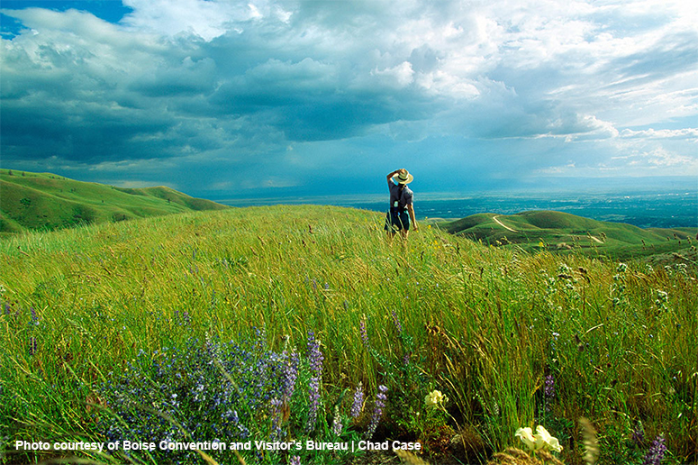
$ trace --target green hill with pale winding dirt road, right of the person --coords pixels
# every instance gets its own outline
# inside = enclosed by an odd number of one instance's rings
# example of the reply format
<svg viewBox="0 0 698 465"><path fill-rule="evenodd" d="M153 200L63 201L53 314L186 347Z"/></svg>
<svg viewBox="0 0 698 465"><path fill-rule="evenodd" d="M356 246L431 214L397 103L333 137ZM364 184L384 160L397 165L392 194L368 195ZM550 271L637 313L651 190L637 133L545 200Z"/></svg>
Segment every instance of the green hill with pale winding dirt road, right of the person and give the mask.
<svg viewBox="0 0 698 465"><path fill-rule="evenodd" d="M603 253L618 260L690 251L698 232L696 228L641 229L552 211L474 214L438 226L485 244L516 245L526 251Z"/></svg>

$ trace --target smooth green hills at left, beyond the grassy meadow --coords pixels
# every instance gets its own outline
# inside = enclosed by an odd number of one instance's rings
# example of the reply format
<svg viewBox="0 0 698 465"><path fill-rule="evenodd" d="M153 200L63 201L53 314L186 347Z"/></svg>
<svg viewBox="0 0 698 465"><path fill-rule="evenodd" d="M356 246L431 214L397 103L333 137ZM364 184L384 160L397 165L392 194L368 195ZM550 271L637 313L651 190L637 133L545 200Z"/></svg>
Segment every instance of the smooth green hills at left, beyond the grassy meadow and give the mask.
<svg viewBox="0 0 698 465"><path fill-rule="evenodd" d="M169 187L125 189L50 173L0 170L0 234L223 208Z"/></svg>

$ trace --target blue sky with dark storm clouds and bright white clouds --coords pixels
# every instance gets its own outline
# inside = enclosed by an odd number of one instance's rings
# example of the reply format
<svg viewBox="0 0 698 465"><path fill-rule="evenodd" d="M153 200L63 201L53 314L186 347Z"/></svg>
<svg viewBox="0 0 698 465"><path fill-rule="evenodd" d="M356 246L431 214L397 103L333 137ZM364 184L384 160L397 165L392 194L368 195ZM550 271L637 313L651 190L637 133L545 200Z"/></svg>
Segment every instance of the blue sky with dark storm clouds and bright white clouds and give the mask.
<svg viewBox="0 0 698 465"><path fill-rule="evenodd" d="M693 0L1 1L0 166L212 199L698 190ZM418 196L415 196L418 198Z"/></svg>

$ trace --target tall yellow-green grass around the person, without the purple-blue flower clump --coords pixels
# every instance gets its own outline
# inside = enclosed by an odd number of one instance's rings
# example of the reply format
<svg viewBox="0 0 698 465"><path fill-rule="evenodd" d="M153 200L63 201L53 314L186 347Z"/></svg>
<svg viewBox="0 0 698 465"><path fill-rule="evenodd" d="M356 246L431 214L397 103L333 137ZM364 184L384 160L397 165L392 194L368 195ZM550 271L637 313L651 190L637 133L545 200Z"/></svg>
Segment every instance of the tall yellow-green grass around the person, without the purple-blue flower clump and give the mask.
<svg viewBox="0 0 698 465"><path fill-rule="evenodd" d="M264 326L275 350L315 333L328 398L385 384L378 434L432 452L467 431L470 460L485 460L517 428L545 424L576 462L585 416L607 461L637 459L659 434L672 460L695 460L694 268L530 255L427 227L389 243L382 222L274 206L5 239L0 435L91 437L95 384L140 351L241 341ZM424 412L433 388L448 395L448 417ZM638 422L645 439L633 442Z"/></svg>

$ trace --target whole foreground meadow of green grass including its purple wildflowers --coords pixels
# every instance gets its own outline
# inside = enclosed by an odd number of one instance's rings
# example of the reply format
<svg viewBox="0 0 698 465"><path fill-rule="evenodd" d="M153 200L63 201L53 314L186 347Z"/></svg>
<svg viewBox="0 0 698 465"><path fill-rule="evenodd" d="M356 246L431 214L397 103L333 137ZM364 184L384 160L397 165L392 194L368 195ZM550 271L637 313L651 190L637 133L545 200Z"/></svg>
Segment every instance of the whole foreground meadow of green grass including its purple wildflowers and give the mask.
<svg viewBox="0 0 698 465"><path fill-rule="evenodd" d="M640 464L657 438L662 463L696 460L694 264L498 248L426 225L391 244L383 220L277 205L5 238L0 462L162 463L156 452L14 444L175 431L420 442L432 463L478 463L542 424L561 459L583 463L581 417L598 432L599 463ZM436 389L448 398L425 406ZM205 453L221 463L358 456Z"/></svg>

